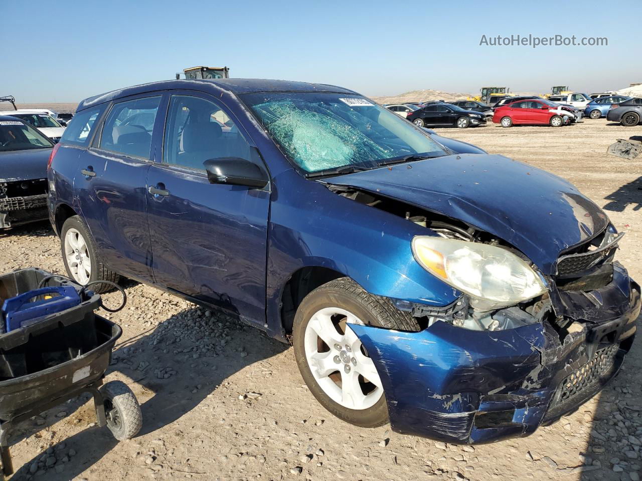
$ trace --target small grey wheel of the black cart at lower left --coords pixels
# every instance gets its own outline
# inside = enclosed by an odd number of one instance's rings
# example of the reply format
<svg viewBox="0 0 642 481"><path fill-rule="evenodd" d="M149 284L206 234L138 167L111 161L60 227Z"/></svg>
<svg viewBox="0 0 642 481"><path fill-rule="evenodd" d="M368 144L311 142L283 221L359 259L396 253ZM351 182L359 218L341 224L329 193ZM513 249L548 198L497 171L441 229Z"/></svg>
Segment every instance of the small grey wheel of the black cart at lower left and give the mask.
<svg viewBox="0 0 642 481"><path fill-rule="evenodd" d="M143 426L143 413L134 392L122 381L111 381L100 388L105 400L107 427L118 441L134 437Z"/></svg>

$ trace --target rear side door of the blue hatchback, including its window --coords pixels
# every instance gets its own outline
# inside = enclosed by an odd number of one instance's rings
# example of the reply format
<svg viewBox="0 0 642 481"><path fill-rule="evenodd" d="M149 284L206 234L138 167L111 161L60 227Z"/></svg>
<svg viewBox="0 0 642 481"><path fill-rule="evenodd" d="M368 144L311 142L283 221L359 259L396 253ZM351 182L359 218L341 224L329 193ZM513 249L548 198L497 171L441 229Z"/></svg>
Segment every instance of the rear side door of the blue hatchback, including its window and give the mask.
<svg viewBox="0 0 642 481"><path fill-rule="evenodd" d="M115 101L100 135L78 162L74 188L82 215L100 249L103 262L118 273L153 280L152 248L147 228L147 171L157 153L155 124L160 94Z"/></svg>

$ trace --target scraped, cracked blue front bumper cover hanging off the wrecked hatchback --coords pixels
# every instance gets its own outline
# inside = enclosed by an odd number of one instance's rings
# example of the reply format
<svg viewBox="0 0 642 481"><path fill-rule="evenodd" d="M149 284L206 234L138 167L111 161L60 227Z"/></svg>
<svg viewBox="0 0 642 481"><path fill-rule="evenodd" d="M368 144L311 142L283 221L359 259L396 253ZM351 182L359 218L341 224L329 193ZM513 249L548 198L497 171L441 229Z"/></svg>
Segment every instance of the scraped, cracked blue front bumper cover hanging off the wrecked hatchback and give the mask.
<svg viewBox="0 0 642 481"><path fill-rule="evenodd" d="M602 313L563 343L548 323L492 332L446 322L421 332L351 325L377 366L393 430L487 443L531 434L594 396L630 349L639 286L617 266L597 303L583 292L562 297Z"/></svg>

